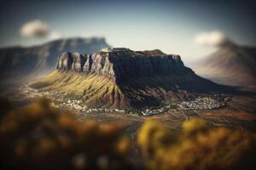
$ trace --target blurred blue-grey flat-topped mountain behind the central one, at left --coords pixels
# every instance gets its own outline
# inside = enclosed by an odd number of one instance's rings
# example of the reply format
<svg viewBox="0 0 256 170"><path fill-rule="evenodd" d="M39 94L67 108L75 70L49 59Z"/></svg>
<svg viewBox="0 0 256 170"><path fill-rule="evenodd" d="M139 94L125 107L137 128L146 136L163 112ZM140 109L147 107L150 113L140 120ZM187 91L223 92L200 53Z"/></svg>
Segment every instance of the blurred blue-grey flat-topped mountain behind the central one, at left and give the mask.
<svg viewBox="0 0 256 170"><path fill-rule="evenodd" d="M17 79L53 71L58 56L65 51L91 54L109 47L104 38L68 38L34 47L0 48L0 77Z"/></svg>

